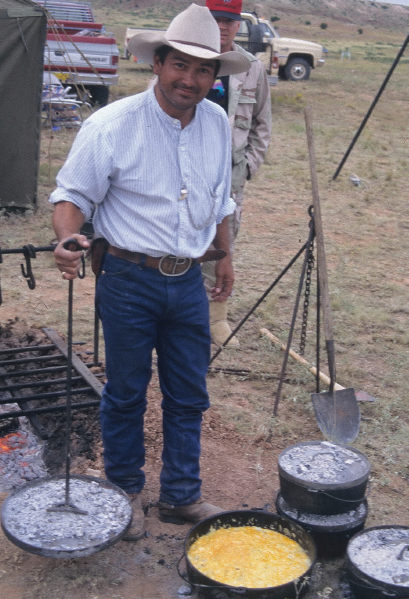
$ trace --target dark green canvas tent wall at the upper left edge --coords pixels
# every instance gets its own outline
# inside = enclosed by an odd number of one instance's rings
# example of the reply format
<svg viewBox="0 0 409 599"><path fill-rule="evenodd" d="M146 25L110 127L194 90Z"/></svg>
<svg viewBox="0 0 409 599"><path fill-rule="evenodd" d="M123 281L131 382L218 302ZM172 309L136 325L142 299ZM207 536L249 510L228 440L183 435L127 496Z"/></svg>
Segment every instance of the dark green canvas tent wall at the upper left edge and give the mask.
<svg viewBox="0 0 409 599"><path fill-rule="evenodd" d="M37 199L47 19L30 0L0 0L0 208Z"/></svg>

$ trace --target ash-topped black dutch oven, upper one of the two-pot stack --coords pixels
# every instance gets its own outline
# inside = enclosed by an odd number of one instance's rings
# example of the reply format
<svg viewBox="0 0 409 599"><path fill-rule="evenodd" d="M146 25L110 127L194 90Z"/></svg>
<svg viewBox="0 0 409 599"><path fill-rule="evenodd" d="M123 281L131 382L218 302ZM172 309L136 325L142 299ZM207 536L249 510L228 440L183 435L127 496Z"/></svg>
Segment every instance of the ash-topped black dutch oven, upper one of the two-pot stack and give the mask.
<svg viewBox="0 0 409 599"><path fill-rule="evenodd" d="M365 499L370 464L357 449L328 441L291 445L278 457L280 490L292 508L340 514Z"/></svg>

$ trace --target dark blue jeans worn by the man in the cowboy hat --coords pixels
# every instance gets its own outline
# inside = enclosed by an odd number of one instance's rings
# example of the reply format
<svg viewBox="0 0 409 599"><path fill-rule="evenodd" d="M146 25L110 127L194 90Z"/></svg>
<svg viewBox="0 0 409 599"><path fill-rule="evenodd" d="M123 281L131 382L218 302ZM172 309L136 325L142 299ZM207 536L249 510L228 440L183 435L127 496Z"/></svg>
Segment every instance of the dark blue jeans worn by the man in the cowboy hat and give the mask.
<svg viewBox="0 0 409 599"><path fill-rule="evenodd" d="M107 478L128 493L144 486L143 420L155 348L163 394L159 499L188 505L200 497L201 421L209 407L209 314L200 266L169 277L107 254L96 307L108 379L101 401Z"/></svg>

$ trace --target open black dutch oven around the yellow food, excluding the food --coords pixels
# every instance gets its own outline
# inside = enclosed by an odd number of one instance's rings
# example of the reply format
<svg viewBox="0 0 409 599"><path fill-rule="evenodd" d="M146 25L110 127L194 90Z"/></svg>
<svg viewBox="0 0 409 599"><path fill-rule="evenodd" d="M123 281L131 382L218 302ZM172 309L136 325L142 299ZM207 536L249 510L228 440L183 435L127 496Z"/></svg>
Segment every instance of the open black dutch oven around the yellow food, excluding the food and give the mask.
<svg viewBox="0 0 409 599"><path fill-rule="evenodd" d="M200 572L189 560L188 553L192 544L211 530L240 526L258 526L279 532L296 541L311 561L308 570L296 580L268 588L233 587L213 580ZM263 510L238 510L222 512L196 524L187 534L184 543L187 579L201 597L206 599L298 599L308 590L309 580L316 560L315 543L301 526L288 518ZM179 571L179 574L182 574ZM183 578L183 576L182 576Z"/></svg>

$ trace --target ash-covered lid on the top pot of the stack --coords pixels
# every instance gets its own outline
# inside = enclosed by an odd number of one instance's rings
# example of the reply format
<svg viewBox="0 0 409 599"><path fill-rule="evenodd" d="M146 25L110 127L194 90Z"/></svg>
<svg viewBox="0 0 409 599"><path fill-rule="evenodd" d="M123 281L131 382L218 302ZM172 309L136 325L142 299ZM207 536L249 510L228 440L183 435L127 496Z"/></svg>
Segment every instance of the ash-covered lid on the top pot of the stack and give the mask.
<svg viewBox="0 0 409 599"><path fill-rule="evenodd" d="M370 464L358 450L329 441L291 445L278 457L281 474L304 484L359 484L369 476Z"/></svg>

